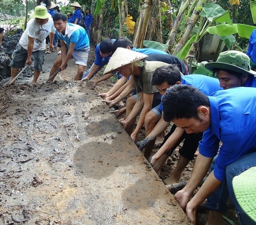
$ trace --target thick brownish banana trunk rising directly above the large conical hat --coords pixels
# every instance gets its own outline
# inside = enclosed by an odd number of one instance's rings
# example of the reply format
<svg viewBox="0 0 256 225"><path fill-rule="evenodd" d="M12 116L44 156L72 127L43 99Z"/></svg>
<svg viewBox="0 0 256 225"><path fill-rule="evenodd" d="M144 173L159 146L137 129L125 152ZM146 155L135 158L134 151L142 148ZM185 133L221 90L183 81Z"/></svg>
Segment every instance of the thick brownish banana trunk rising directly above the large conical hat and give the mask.
<svg viewBox="0 0 256 225"><path fill-rule="evenodd" d="M152 0L146 0L141 7L140 16L138 18L138 26L133 38L134 47L143 47L143 41L148 29L148 22L151 13Z"/></svg>

